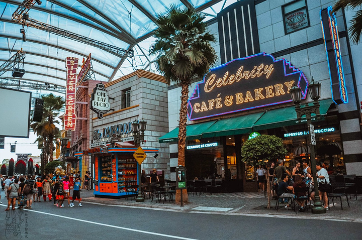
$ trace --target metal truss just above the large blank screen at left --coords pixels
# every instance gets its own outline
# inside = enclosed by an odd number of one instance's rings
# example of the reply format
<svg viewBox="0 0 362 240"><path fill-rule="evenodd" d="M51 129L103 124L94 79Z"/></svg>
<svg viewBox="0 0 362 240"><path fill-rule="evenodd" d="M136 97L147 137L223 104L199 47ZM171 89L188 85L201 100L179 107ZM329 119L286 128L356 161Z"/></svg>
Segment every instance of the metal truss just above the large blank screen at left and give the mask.
<svg viewBox="0 0 362 240"><path fill-rule="evenodd" d="M53 92L59 92L62 94L65 94L65 87L59 87L59 86L50 86L50 84L39 84L39 83L32 83L27 81L21 81L21 80L15 80L15 79L9 79L0 77L0 86L7 87L7 88L13 88L13 89L30 89L30 90L47 90L47 91L53 91Z"/></svg>

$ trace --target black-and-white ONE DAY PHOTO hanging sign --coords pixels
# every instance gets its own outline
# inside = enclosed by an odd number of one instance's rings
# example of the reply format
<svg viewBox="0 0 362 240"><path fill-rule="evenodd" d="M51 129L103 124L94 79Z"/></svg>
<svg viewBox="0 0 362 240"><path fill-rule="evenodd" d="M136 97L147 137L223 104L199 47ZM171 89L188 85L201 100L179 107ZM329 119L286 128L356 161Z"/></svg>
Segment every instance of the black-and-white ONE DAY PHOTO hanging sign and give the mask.
<svg viewBox="0 0 362 240"><path fill-rule="evenodd" d="M98 118L102 118L103 114L111 110L107 90L102 83L98 83L93 89L91 109L98 114Z"/></svg>

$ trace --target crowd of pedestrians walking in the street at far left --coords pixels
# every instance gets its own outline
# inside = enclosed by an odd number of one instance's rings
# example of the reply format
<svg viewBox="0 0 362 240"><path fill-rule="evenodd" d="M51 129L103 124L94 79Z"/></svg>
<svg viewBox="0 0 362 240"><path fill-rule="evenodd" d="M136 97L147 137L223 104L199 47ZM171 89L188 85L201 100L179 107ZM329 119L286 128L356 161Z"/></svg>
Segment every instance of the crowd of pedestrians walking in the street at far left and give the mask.
<svg viewBox="0 0 362 240"><path fill-rule="evenodd" d="M8 199L8 207L6 211L10 210L10 207L14 210L18 203L18 209L31 209L33 202L52 201L54 206L64 207L63 201L66 199L68 207L73 207L74 200L78 200L78 206L81 207L80 189L81 189L81 177L80 171L78 174L70 175L73 182L69 181L69 175L61 177L60 175L35 176L35 175L16 175L16 176L3 176L0 175L0 194L2 188L5 190L5 197ZM90 172L86 172L83 182L85 183L84 189L89 190ZM70 198L70 190L73 186L72 197ZM0 195L0 204L1 204Z"/></svg>

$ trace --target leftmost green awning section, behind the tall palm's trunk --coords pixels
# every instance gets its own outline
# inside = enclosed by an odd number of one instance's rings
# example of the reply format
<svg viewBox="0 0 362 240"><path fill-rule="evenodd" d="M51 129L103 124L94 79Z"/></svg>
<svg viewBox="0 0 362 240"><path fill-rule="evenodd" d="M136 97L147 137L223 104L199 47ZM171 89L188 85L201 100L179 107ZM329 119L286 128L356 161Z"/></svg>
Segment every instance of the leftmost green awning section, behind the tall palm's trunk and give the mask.
<svg viewBox="0 0 362 240"><path fill-rule="evenodd" d="M210 121L199 124L192 124L186 126L186 140L201 139L202 133L213 125L216 121ZM159 143L177 143L178 141L178 128L175 128L171 132L163 135L158 139Z"/></svg>

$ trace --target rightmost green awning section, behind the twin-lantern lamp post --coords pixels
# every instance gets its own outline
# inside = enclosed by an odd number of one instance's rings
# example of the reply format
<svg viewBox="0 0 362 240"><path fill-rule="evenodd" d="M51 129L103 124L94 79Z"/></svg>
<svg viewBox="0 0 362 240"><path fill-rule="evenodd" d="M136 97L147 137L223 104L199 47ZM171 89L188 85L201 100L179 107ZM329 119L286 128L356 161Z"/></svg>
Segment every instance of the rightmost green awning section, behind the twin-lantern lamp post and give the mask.
<svg viewBox="0 0 362 240"><path fill-rule="evenodd" d="M328 108L333 103L332 99L320 100L319 112L321 115L325 115ZM303 105L302 105L303 106ZM312 114L312 118L313 118ZM302 117L301 121L306 121L305 117ZM313 121L313 119L312 119ZM256 121L253 126L254 131L264 129L274 129L279 127L291 126L300 124L297 122L297 112L294 106L288 106L284 108L277 108L265 111L265 113Z"/></svg>

